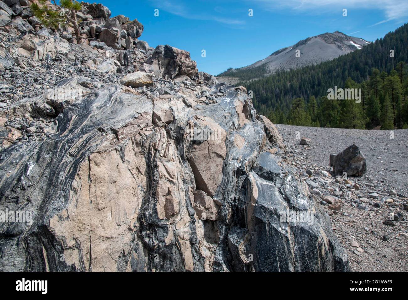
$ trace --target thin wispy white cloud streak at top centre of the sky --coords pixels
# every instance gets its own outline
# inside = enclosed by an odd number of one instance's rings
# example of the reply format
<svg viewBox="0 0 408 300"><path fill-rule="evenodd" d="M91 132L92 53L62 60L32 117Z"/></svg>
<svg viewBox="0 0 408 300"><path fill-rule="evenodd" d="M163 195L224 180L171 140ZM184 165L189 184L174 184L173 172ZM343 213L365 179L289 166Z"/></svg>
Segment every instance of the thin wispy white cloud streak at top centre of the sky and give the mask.
<svg viewBox="0 0 408 300"><path fill-rule="evenodd" d="M228 24L228 25L244 25L245 24L244 20L225 18L224 16L222 16L223 14L220 11L220 7L215 7L214 11L216 13L219 13L219 15L214 15L214 13L208 14L205 12L197 13L195 11L191 11L191 9L188 9L188 6L182 4L181 1L173 2L171 0L164 0L164 1L153 0L152 2L157 8L163 9L164 11L167 11L176 16L180 16L186 19L208 20L208 21L215 21L215 22L220 22L220 23Z"/></svg>

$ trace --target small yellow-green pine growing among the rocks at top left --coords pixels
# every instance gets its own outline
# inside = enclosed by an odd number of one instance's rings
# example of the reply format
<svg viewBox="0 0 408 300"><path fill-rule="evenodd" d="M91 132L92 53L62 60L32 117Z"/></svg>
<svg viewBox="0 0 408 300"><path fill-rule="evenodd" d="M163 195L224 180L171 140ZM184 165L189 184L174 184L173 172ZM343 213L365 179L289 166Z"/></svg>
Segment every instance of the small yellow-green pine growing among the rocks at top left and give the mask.
<svg viewBox="0 0 408 300"><path fill-rule="evenodd" d="M76 13L82 9L82 4L77 1L60 0L60 5L55 0L47 4L47 0L38 0L31 4L34 16L45 26L58 29L60 26L72 26L77 44L80 44L80 32Z"/></svg>

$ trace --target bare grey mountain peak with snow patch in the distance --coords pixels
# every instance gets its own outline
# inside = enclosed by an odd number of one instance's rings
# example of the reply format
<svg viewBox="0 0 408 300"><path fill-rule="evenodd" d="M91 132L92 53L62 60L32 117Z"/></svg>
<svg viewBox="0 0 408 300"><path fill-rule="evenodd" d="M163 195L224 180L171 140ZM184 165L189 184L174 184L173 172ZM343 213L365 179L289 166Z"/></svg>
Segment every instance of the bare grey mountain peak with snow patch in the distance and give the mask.
<svg viewBox="0 0 408 300"><path fill-rule="evenodd" d="M272 74L278 70L299 69L326 60L333 60L341 55L361 49L367 44L370 44L370 42L361 38L347 36L339 31L327 32L275 51L267 58L258 60L249 66L226 71L217 76L217 79L220 82L236 83L239 81L236 78L237 73L256 67L264 67L262 75ZM296 51L299 51L298 56L296 56Z"/></svg>

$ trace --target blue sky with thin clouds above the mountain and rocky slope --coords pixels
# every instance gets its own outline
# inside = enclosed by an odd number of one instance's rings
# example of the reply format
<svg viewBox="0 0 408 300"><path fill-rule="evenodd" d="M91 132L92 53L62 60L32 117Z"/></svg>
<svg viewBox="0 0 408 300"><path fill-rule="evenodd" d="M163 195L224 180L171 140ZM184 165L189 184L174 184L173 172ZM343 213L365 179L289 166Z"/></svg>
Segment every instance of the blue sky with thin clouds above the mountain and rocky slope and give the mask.
<svg viewBox="0 0 408 300"><path fill-rule="evenodd" d="M200 71L244 67L325 32L374 41L408 21L408 0L98 0L137 18L151 47L187 50ZM159 16L155 17L155 9ZM248 9L253 16L248 16ZM347 9L347 16L343 16ZM202 50L206 57L202 57Z"/></svg>

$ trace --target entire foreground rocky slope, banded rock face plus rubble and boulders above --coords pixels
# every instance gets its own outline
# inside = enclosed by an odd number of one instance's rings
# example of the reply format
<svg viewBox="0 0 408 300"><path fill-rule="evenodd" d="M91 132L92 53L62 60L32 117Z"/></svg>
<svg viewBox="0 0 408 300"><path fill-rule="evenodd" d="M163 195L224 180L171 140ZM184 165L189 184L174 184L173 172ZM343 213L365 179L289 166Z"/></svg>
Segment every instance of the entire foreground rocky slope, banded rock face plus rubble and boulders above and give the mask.
<svg viewBox="0 0 408 300"><path fill-rule="evenodd" d="M243 87L101 4L77 45L0 3L0 271L349 270Z"/></svg>

